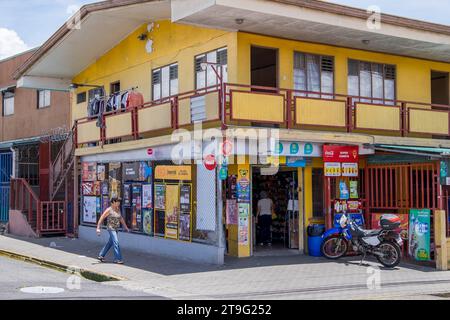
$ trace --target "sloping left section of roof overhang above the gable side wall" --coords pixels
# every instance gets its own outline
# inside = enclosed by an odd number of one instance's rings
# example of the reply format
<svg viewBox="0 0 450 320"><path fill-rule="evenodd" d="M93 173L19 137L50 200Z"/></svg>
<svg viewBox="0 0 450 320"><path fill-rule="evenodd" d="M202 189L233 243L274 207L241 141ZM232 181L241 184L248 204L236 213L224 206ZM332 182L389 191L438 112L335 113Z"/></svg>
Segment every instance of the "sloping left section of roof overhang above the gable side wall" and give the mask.
<svg viewBox="0 0 450 320"><path fill-rule="evenodd" d="M52 37L60 39L50 38L30 58L32 63L17 71L18 87L66 91L75 75L139 26L170 19L169 0L105 1L85 7Z"/></svg>

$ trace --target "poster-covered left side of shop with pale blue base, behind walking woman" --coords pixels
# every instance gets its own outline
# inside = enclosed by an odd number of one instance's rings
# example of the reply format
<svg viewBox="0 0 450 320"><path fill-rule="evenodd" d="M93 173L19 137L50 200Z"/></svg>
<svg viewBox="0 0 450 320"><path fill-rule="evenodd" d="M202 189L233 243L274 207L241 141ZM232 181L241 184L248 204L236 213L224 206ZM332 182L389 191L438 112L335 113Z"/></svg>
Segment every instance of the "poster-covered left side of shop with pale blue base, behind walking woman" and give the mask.
<svg viewBox="0 0 450 320"><path fill-rule="evenodd" d="M174 164L173 147L82 157L80 237L105 241L94 227L110 199L119 197L131 230L120 233L123 248L223 263L216 171L201 163Z"/></svg>

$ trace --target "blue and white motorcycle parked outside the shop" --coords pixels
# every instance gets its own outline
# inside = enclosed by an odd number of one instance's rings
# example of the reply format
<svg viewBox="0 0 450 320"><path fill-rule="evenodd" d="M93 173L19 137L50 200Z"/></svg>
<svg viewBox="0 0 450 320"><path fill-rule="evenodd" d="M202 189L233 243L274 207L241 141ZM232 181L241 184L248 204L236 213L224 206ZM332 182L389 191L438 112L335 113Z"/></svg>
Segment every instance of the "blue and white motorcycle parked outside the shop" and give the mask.
<svg viewBox="0 0 450 320"><path fill-rule="evenodd" d="M365 230L344 213L339 220L339 228L327 230L322 236L321 251L328 259L343 257L351 245L353 251L362 254L360 265L367 255L373 255L387 268L396 267L401 260L403 240L398 228L400 218L386 214L380 218L379 230Z"/></svg>

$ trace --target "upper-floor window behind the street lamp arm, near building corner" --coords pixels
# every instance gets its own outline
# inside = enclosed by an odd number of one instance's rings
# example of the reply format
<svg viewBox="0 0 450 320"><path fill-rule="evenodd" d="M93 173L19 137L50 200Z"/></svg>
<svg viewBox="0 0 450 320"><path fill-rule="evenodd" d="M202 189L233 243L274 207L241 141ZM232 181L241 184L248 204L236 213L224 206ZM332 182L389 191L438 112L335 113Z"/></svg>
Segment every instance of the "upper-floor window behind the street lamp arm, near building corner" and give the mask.
<svg viewBox="0 0 450 320"><path fill-rule="evenodd" d="M206 70L202 69L202 63L209 62L217 64L217 66L208 65ZM219 67L221 66L221 67ZM195 57L195 88L203 89L219 84L219 79L214 72L223 70L223 82L228 81L228 51L227 48L217 49Z"/></svg>

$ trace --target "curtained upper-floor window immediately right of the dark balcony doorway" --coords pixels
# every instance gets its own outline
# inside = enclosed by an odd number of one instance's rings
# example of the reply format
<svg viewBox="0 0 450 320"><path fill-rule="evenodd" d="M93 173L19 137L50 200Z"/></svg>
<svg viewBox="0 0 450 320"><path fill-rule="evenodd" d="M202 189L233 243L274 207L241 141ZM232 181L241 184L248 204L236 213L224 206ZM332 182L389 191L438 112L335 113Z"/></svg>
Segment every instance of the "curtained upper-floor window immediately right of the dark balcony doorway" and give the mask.
<svg viewBox="0 0 450 320"><path fill-rule="evenodd" d="M333 98L334 58L295 52L294 89L314 92L298 92L298 96Z"/></svg>

